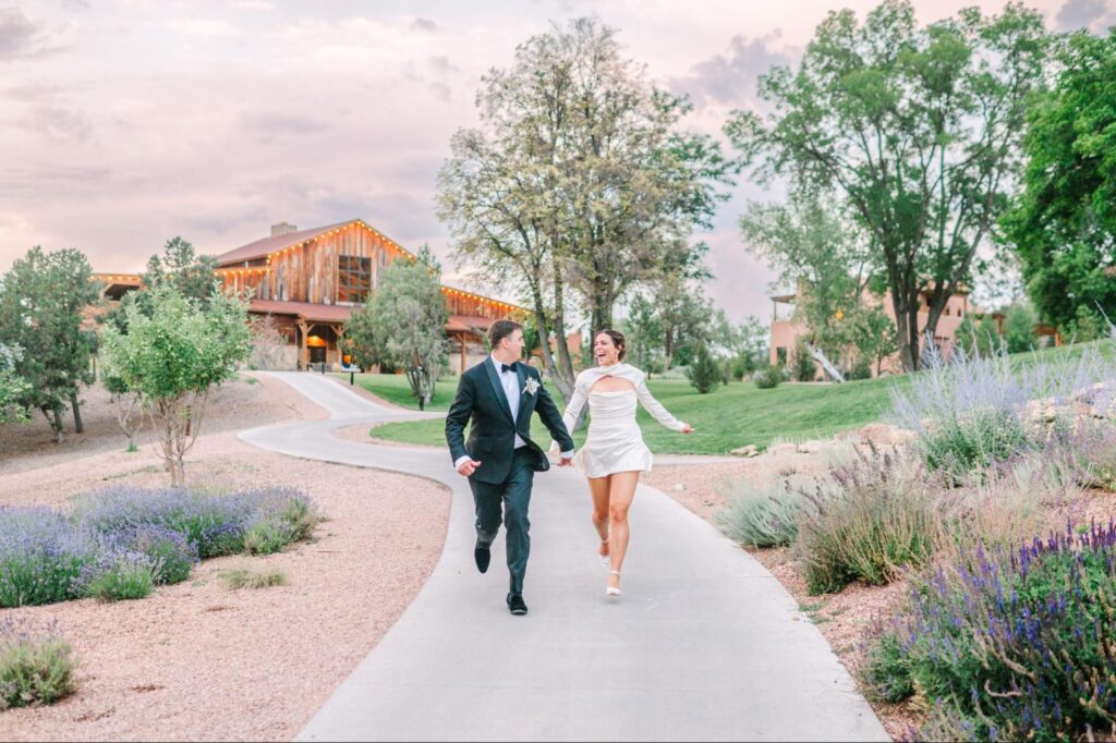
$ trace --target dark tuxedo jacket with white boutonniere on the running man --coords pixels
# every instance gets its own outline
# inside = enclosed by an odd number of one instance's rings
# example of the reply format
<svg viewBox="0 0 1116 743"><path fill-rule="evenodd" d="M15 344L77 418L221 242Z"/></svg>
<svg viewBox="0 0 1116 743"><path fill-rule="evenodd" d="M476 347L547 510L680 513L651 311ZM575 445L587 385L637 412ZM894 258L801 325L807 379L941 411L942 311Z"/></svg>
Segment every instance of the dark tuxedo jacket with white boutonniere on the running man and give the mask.
<svg viewBox="0 0 1116 743"><path fill-rule="evenodd" d="M517 433L535 456L535 471L550 469L542 448L531 441L531 415L535 412L538 412L561 451L574 448L574 440L566 431L558 406L542 386L538 370L522 363L517 364L516 369L520 393L519 414L514 419L491 356L461 375L458 395L445 416L445 441L454 462L468 455L481 463L470 480L490 484L507 480L516 452ZM538 383L538 389L532 395L525 389L528 379ZM464 441L466 423L470 424L469 441Z"/></svg>

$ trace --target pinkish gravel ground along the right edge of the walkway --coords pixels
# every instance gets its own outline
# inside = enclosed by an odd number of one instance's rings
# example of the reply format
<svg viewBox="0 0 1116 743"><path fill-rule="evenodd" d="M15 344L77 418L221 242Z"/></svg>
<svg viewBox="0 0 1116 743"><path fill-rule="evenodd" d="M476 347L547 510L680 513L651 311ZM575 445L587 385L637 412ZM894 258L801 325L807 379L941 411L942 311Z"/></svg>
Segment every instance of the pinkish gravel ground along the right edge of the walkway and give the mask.
<svg viewBox="0 0 1116 743"><path fill-rule="evenodd" d="M712 522L712 514L727 504L732 483L741 479L760 485L779 476L820 474L825 470L826 465L814 454L788 452L740 462L658 466L642 481ZM877 617L887 616L906 592L905 582L885 587L856 583L840 594L810 596L790 549L748 551L795 597L853 674L864 659L863 643L872 624ZM873 708L894 740L910 739L912 728L917 726L916 712L907 704L874 703Z"/></svg>

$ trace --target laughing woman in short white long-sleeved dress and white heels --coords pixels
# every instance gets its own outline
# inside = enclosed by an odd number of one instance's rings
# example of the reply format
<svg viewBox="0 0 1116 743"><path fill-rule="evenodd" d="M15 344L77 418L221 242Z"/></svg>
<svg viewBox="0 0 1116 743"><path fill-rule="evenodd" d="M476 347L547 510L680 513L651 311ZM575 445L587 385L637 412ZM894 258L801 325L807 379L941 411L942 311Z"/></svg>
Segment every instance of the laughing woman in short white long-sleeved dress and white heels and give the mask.
<svg viewBox="0 0 1116 743"><path fill-rule="evenodd" d="M574 395L562 422L574 430L586 401L589 403L589 432L585 446L574 456L574 464L585 473L593 495L593 525L600 537L600 560L608 565L605 594L620 595L620 568L628 544L627 512L635 498L641 472L651 472L651 450L635 422L636 403L672 431L693 433L693 428L666 412L652 397L646 375L624 364L626 342L616 330L602 330L593 341L597 366L578 375Z"/></svg>

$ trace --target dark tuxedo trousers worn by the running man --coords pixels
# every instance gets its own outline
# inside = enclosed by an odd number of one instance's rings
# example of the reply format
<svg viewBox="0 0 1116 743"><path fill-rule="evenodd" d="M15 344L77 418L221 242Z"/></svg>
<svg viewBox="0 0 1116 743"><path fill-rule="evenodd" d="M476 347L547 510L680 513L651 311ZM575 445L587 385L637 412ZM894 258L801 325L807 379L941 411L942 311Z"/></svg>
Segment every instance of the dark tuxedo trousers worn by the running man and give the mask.
<svg viewBox="0 0 1116 743"><path fill-rule="evenodd" d="M508 479L492 484L470 479L473 504L477 506L477 543L487 547L500 531L500 521L507 529L508 572L511 573L510 591L523 592L527 558L531 553L531 522L527 510L531 504L531 484L535 481L533 454L526 446L516 450ZM483 466L483 465L482 465ZM502 508L501 508L502 506ZM502 511L502 513L501 513Z"/></svg>

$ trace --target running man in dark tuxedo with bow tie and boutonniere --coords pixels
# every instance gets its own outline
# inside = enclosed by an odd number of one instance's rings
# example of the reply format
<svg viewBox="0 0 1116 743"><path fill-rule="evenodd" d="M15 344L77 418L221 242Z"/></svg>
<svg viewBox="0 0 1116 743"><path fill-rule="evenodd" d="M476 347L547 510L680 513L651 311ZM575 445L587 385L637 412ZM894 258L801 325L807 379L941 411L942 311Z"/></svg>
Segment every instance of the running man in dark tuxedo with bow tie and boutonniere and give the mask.
<svg viewBox="0 0 1116 743"><path fill-rule="evenodd" d="M559 466L574 456L561 413L542 387L539 373L519 359L523 353L523 328L511 320L497 320L489 328L492 355L461 375L458 395L445 416L445 441L450 444L453 466L469 477L477 506L477 569L488 570L492 540L500 529L501 505L508 529L508 571L511 589L508 610L527 614L523 602L523 575L531 551L531 527L527 509L531 503L531 483L536 472L546 472L550 463L531 441L531 413L538 411L550 435L561 446ZM470 423L469 441L463 440Z"/></svg>

